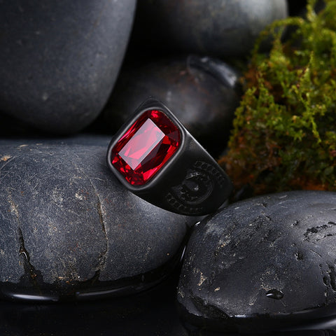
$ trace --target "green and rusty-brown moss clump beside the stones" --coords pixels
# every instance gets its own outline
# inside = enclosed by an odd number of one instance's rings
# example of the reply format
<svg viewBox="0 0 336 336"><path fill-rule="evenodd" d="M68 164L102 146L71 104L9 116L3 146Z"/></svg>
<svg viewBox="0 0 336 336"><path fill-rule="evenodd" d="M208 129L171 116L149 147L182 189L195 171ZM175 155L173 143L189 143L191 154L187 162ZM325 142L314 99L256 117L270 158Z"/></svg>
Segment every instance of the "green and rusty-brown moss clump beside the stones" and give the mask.
<svg viewBox="0 0 336 336"><path fill-rule="evenodd" d="M263 33L271 51L255 46L236 111L225 167L236 190L336 190L336 1L307 18L287 18ZM286 27L295 27L286 42Z"/></svg>

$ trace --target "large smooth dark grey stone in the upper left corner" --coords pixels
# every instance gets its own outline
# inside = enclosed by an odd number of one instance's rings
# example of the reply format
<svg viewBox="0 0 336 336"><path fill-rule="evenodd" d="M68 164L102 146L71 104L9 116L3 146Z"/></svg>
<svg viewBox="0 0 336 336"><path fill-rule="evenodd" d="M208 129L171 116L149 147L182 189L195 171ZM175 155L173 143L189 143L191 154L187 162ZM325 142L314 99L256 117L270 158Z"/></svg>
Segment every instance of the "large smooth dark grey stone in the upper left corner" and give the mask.
<svg viewBox="0 0 336 336"><path fill-rule="evenodd" d="M135 3L1 1L0 111L48 132L90 124L116 80Z"/></svg>

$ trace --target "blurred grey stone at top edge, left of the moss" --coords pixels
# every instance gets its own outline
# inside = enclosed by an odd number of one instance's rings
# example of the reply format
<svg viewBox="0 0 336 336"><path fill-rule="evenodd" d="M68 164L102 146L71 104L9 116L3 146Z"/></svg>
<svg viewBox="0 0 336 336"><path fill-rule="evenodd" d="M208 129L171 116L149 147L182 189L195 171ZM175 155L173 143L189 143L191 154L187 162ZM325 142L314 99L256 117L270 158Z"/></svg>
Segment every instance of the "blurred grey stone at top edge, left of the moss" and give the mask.
<svg viewBox="0 0 336 336"><path fill-rule="evenodd" d="M134 32L144 45L246 55L260 31L286 18L286 0L142 0Z"/></svg>

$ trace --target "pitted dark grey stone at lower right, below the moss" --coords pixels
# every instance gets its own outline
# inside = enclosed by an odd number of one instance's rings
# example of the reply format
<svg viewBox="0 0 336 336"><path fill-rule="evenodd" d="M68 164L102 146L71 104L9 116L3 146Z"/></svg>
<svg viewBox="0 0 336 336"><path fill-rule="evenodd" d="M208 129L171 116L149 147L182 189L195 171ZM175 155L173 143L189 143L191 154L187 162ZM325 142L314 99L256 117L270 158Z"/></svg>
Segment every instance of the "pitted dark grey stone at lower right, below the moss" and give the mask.
<svg viewBox="0 0 336 336"><path fill-rule="evenodd" d="M335 316L335 262L336 193L255 197L195 228L178 299L187 321L214 330L310 323Z"/></svg>

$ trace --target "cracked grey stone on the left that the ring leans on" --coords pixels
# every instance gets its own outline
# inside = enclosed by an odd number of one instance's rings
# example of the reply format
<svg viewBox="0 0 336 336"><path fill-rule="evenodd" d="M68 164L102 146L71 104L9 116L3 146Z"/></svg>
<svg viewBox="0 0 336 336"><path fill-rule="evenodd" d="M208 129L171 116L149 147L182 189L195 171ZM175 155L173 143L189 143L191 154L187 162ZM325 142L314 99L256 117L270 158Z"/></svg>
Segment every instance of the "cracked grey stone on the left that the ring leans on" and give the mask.
<svg viewBox="0 0 336 336"><path fill-rule="evenodd" d="M0 146L0 296L99 297L153 286L187 219L129 193L105 146Z"/></svg>

